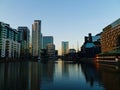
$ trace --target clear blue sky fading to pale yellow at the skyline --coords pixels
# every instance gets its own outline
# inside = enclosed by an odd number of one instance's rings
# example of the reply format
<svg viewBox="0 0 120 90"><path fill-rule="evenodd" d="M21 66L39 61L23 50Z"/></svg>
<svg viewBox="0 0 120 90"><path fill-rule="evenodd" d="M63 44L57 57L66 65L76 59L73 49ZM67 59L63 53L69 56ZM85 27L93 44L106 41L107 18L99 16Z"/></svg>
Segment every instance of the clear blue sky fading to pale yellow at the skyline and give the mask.
<svg viewBox="0 0 120 90"><path fill-rule="evenodd" d="M44 36L53 36L56 49L61 41L77 48L88 33L96 35L120 18L120 0L0 0L0 21L12 28L42 21Z"/></svg>

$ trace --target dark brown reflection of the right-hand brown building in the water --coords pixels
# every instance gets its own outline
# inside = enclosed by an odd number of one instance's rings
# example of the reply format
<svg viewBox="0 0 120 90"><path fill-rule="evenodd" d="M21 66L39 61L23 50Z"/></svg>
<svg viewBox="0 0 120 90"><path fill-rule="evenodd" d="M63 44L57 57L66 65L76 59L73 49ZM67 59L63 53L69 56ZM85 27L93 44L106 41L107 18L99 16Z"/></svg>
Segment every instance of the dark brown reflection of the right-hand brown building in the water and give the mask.
<svg viewBox="0 0 120 90"><path fill-rule="evenodd" d="M116 68L117 67L117 68ZM119 66L100 65L102 82L105 90L120 90L120 68Z"/></svg>

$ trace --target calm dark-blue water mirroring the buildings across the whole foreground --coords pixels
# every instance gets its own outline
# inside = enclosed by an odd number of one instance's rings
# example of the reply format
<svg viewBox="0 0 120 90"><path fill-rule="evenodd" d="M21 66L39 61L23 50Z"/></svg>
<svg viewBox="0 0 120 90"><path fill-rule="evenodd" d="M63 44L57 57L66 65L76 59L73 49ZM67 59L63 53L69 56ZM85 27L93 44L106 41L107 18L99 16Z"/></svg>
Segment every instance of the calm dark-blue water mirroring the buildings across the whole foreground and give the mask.
<svg viewBox="0 0 120 90"><path fill-rule="evenodd" d="M120 71L61 60L0 63L0 90L120 90Z"/></svg>

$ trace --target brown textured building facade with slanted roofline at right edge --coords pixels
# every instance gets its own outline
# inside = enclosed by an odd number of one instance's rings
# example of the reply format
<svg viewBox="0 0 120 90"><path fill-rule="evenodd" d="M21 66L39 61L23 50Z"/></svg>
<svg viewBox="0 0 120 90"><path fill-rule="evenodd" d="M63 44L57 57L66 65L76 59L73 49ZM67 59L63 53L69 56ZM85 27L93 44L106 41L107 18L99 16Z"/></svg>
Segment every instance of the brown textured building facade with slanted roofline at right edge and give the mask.
<svg viewBox="0 0 120 90"><path fill-rule="evenodd" d="M103 53L120 50L120 19L103 29L101 46Z"/></svg>

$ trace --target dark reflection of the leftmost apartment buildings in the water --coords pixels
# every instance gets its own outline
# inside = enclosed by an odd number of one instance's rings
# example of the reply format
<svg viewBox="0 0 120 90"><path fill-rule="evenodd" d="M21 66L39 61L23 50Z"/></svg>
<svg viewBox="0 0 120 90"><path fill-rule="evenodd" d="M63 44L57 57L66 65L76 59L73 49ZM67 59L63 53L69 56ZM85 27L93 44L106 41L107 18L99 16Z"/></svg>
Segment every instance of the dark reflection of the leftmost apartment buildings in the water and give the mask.
<svg viewBox="0 0 120 90"><path fill-rule="evenodd" d="M0 90L27 90L28 72L27 63L1 63Z"/></svg>

